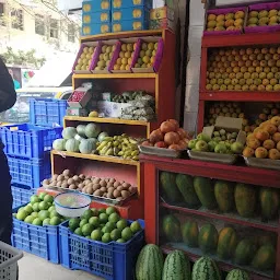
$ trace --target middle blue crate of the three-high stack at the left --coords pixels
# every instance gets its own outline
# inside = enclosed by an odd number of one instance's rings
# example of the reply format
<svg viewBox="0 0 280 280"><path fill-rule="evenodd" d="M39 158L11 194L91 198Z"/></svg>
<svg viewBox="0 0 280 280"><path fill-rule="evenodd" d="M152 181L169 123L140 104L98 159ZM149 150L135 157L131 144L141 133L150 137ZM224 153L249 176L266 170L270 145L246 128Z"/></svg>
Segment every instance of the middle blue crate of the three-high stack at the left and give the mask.
<svg viewBox="0 0 280 280"><path fill-rule="evenodd" d="M40 183L51 176L50 155L47 153L43 160L18 159L7 156L12 183L28 186L31 188L40 187Z"/></svg>

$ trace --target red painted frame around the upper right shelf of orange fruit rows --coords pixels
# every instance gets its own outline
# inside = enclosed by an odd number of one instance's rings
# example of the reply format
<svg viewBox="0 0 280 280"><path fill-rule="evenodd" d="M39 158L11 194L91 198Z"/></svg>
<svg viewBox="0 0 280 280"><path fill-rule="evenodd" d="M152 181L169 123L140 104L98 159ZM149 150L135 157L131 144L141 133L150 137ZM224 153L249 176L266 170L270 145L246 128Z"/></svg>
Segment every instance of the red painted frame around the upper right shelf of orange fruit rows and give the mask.
<svg viewBox="0 0 280 280"><path fill-rule="evenodd" d="M208 101L228 102L280 102L280 92L242 92L242 91L207 91L207 60L208 49L219 47L242 47L280 44L280 33L257 33L229 36L205 36L202 38L198 131L202 131L205 119L205 106Z"/></svg>

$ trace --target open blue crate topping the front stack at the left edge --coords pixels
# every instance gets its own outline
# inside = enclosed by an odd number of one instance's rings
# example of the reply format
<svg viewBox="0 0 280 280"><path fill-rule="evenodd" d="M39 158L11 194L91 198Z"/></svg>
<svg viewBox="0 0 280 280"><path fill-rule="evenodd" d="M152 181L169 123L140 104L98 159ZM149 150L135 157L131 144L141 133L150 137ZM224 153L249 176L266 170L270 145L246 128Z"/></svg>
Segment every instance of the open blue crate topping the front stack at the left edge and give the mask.
<svg viewBox="0 0 280 280"><path fill-rule="evenodd" d="M61 138L62 127L36 127L28 124L0 127L7 155L42 159L52 149L54 140Z"/></svg>

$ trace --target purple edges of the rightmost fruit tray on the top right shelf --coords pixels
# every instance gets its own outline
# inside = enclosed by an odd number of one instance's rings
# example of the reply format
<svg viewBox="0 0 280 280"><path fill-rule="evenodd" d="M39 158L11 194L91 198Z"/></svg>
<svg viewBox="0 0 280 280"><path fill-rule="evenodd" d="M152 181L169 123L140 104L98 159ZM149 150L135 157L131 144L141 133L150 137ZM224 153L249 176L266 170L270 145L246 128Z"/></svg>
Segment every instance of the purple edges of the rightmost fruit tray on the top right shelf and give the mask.
<svg viewBox="0 0 280 280"><path fill-rule="evenodd" d="M260 3L260 4L252 4L248 7L248 13L250 11L262 11L262 10L280 10L280 2L272 3ZM270 33L270 32L279 32L280 24L278 25L268 25L268 26L255 26L255 27L244 27L245 33Z"/></svg>

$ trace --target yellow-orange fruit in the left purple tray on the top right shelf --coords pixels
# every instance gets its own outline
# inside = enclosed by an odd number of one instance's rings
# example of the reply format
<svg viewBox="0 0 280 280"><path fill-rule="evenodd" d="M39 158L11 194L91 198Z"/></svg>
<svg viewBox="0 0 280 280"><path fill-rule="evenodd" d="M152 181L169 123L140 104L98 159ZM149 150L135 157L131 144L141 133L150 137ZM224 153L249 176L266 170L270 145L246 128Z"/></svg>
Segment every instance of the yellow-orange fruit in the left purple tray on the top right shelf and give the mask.
<svg viewBox="0 0 280 280"><path fill-rule="evenodd" d="M207 31L236 31L242 30L244 25L245 12L226 14L208 14Z"/></svg>

